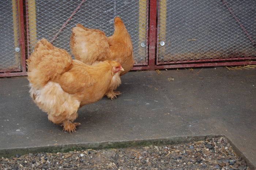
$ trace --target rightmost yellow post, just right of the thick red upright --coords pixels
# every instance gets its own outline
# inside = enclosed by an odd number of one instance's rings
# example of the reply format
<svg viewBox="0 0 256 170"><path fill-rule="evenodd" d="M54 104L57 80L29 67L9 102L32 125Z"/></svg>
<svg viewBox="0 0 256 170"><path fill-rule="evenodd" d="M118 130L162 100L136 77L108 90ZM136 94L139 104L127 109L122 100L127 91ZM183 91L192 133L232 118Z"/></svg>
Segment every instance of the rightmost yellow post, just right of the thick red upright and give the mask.
<svg viewBox="0 0 256 170"><path fill-rule="evenodd" d="M158 55L165 54L165 46L169 45L169 42L166 42L166 0L159 1L159 44L158 44ZM165 42L165 45L161 46L160 42ZM165 57L165 56L163 56Z"/></svg>

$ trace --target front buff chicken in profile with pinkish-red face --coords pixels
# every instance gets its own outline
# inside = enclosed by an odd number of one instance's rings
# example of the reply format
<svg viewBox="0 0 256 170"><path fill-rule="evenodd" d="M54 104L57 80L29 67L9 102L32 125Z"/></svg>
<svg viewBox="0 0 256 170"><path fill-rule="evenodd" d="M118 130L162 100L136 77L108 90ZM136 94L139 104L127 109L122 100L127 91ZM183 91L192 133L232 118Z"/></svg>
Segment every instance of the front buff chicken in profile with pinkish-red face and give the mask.
<svg viewBox="0 0 256 170"><path fill-rule="evenodd" d="M63 49L46 39L37 42L27 61L30 95L48 119L61 124L64 131L74 132L78 122L77 110L99 101L110 86L112 78L124 71L117 61L87 65L72 60Z"/></svg>

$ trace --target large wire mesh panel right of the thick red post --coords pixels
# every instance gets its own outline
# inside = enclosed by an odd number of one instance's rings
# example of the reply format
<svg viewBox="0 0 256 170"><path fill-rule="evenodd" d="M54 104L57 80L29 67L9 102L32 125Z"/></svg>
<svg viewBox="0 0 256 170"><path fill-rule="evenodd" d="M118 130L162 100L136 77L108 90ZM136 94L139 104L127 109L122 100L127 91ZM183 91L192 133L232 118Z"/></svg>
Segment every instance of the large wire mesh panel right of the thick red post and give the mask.
<svg viewBox="0 0 256 170"><path fill-rule="evenodd" d="M157 63L256 55L255 0L159 0Z"/></svg>

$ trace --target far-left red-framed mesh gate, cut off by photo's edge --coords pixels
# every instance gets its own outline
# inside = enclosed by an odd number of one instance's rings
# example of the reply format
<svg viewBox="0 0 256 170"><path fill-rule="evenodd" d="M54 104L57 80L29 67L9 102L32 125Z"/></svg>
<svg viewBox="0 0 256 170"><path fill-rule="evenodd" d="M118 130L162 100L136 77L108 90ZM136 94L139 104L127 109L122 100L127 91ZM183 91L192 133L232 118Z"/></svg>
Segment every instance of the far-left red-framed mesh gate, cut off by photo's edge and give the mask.
<svg viewBox="0 0 256 170"><path fill-rule="evenodd" d="M0 2L0 77L26 75L22 0Z"/></svg>

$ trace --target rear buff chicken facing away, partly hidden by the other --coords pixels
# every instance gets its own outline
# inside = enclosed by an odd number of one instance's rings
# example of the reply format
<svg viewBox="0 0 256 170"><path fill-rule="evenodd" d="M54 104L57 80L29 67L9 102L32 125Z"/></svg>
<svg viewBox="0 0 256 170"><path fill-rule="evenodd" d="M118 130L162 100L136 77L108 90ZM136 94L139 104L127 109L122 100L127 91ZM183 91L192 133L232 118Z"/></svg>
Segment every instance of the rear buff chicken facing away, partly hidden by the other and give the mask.
<svg viewBox="0 0 256 170"><path fill-rule="evenodd" d="M81 24L72 28L70 38L71 53L77 60L94 65L104 60L115 60L124 68L124 75L133 67L132 41L123 21L114 19L114 33L106 37L105 33L98 29L87 29ZM114 91L120 85L120 76L114 76L111 85L106 92L108 98L116 98L121 92Z"/></svg>

